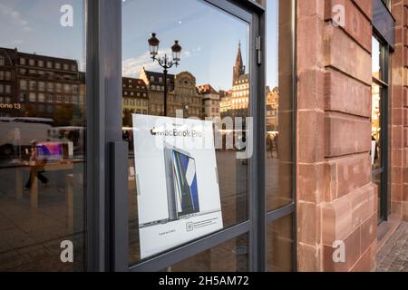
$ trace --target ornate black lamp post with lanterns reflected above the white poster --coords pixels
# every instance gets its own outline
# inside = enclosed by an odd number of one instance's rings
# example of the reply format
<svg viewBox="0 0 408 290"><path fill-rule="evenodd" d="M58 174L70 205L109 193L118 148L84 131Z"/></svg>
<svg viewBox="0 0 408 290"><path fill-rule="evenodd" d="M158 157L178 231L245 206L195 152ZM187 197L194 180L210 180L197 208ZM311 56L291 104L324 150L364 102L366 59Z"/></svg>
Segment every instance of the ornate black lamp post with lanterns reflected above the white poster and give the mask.
<svg viewBox="0 0 408 290"><path fill-rule="evenodd" d="M174 41L174 45L171 46L173 60L170 61L167 54L164 54L163 57L157 56L159 54L159 44L160 40L156 37L156 34L151 34L151 39L149 39L151 59L153 62L157 61L159 63L164 73L164 116L167 116L167 73L173 65L177 67L180 64L181 46L178 40Z"/></svg>

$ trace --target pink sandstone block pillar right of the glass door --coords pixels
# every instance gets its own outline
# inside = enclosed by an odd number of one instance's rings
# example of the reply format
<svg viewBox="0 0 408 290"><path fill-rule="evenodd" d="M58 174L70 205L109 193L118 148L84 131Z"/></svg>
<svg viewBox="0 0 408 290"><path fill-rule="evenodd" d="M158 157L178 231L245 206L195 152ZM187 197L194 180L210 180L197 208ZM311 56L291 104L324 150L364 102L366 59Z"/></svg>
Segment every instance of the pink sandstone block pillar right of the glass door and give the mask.
<svg viewBox="0 0 408 290"><path fill-rule="evenodd" d="M334 5L345 7L343 27ZM299 271L375 268L371 22L371 0L297 1ZM345 262L333 259L335 241Z"/></svg>

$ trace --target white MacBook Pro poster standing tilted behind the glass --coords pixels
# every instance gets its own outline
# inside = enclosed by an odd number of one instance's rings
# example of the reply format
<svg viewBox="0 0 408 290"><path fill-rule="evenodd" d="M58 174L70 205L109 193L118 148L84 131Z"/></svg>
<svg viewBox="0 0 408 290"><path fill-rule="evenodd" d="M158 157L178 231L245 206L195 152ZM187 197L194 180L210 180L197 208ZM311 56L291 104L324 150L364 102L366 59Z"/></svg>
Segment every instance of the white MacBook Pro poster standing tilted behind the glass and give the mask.
<svg viewBox="0 0 408 290"><path fill-rule="evenodd" d="M132 117L141 258L222 229L212 122Z"/></svg>

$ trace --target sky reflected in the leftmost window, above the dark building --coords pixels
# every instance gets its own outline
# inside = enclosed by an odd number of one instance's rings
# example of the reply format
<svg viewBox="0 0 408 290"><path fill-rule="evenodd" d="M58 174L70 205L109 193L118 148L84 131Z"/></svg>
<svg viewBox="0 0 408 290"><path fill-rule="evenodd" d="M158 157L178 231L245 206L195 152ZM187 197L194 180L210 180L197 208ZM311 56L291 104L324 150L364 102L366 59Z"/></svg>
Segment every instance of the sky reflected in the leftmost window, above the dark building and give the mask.
<svg viewBox="0 0 408 290"><path fill-rule="evenodd" d="M73 6L73 27L63 27L63 5ZM0 46L83 63L83 0L0 0Z"/></svg>

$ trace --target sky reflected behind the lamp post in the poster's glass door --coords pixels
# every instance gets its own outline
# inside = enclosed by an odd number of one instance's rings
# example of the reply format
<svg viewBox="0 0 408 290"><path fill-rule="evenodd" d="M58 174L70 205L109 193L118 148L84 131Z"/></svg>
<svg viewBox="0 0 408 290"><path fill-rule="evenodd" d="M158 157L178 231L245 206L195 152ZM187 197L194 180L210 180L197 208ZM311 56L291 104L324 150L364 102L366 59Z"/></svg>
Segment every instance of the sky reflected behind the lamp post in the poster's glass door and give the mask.
<svg viewBox="0 0 408 290"><path fill-rule="evenodd" d="M152 32L160 39L160 53L170 53L174 40L180 41L180 67L170 73L189 71L198 85L209 82L216 90L231 89L239 42L248 63L248 24L204 1L126 0L122 17L125 76L139 76L143 65L162 72L150 59L147 40Z"/></svg>

